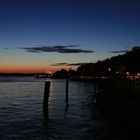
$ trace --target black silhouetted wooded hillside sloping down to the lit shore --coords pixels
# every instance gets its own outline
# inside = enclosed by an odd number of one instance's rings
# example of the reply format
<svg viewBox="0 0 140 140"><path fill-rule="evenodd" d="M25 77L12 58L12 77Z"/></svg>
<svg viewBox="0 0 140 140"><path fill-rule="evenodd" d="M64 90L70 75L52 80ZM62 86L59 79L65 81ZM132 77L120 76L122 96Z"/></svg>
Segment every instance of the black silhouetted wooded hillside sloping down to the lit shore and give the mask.
<svg viewBox="0 0 140 140"><path fill-rule="evenodd" d="M107 58L96 63L82 64L77 71L64 69L53 74L54 78L76 77L126 77L140 73L140 47L133 47L123 55Z"/></svg>

